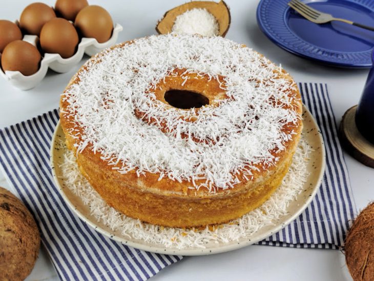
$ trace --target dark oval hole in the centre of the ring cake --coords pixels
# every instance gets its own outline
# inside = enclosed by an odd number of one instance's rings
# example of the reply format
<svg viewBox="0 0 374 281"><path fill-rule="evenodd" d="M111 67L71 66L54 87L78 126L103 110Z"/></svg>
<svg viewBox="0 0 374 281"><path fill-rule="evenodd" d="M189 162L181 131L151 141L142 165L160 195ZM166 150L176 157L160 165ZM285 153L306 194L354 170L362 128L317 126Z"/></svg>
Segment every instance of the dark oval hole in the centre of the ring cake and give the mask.
<svg viewBox="0 0 374 281"><path fill-rule="evenodd" d="M186 90L169 90L165 92L164 98L171 106L180 109L199 108L209 105L209 98L206 96Z"/></svg>

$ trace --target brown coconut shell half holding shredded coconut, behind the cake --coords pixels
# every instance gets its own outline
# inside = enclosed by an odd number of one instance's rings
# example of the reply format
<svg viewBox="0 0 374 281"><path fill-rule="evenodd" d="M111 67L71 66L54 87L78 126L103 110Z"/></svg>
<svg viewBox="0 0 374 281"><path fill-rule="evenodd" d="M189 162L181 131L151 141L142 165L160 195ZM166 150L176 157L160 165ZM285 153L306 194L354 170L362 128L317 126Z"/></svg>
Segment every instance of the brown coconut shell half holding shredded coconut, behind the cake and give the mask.
<svg viewBox="0 0 374 281"><path fill-rule="evenodd" d="M163 18L156 26L156 31L159 34L167 34L172 32L176 17L194 8L206 9L208 12L214 15L219 25L219 35L222 37L226 35L228 28L230 27L231 15L230 10L223 1L220 1L219 3L213 1L192 1L175 7L163 15Z"/></svg>

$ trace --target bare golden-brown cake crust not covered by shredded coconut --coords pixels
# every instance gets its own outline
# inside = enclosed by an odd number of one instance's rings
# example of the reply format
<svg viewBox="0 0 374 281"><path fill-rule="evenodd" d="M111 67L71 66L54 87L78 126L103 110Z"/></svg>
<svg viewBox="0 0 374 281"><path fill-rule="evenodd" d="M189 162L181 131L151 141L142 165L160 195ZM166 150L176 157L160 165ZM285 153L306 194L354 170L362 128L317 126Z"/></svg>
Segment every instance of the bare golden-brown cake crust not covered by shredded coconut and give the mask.
<svg viewBox="0 0 374 281"><path fill-rule="evenodd" d="M126 44L131 44L131 42L116 45L113 49L121 48ZM72 78L67 89L71 85L79 83L78 76L81 71L89 71L89 69L83 66ZM156 91L156 96L159 96L161 101L163 93L169 88L185 89L185 87L196 89L209 87L209 91L206 93L209 93L208 98L212 102L210 104L213 105L217 96L224 98L222 87L218 87L213 81L206 85L203 78L201 81L199 79L197 81L191 80L191 85L180 86L184 79L180 75L182 71L177 70L177 75L174 75L170 81L163 82L164 87L160 87L159 92ZM292 77L284 70L275 73L275 77L285 78L290 84L294 83ZM301 116L302 103L297 87L289 94L296 98L288 107ZM205 188L190 189L191 184L187 180L178 182L167 177L159 179L159 174L156 173L146 172L144 175L138 176L136 170L132 170L121 174L101 159L100 152L94 153L88 148L77 152L75 145L81 142L84 130L74 121L74 115L68 113L70 113L69 102L64 99L63 95L60 101L60 122L66 135L67 146L76 152L77 163L82 174L100 196L110 206L128 216L139 218L144 222L170 227L198 227L225 223L259 207L276 190L287 173L302 130L301 118L296 124L283 126L284 133L293 132L294 135L292 139L284 143L285 149L277 153L272 151L272 155L279 158L277 165L258 164L251 179L246 180L243 174L239 173L240 183L236 184L235 188L218 188L216 192L212 193ZM140 111L135 111L135 115L139 119L144 117ZM72 128L79 130L74 136L69 133ZM119 167L121 163L117 165Z"/></svg>

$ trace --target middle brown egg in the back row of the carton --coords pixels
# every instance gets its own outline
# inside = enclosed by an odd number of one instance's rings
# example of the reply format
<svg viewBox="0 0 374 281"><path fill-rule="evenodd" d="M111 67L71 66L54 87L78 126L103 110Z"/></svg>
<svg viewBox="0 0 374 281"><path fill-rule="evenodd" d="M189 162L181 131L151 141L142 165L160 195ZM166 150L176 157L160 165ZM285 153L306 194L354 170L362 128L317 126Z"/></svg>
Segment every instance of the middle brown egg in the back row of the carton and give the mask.
<svg viewBox="0 0 374 281"><path fill-rule="evenodd" d="M32 3L23 10L19 18L19 27L25 34L39 35L44 24L54 17L56 14L48 5Z"/></svg>

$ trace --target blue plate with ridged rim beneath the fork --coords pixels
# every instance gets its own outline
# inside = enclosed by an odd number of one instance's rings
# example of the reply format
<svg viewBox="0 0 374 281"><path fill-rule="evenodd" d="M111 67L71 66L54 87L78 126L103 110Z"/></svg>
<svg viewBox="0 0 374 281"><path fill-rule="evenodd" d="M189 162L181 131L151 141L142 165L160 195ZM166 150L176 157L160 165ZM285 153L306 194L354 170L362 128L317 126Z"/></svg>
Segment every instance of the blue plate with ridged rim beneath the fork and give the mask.
<svg viewBox="0 0 374 281"><path fill-rule="evenodd" d="M288 0L261 0L257 7L257 23L279 47L324 64L371 67L374 31L342 22L315 24L292 8ZM327 0L303 1L310 7L334 17L374 27L374 1Z"/></svg>

